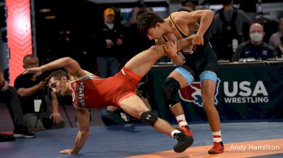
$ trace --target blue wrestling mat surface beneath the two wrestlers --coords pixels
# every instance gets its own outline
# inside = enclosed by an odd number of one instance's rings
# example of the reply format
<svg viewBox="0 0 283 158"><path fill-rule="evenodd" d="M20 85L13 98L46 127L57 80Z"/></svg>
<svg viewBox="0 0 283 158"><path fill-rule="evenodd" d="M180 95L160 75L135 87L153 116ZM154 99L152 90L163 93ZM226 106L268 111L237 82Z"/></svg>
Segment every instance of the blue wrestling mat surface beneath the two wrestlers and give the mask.
<svg viewBox="0 0 283 158"><path fill-rule="evenodd" d="M195 138L192 147L212 145L212 133L207 123L192 124L190 128ZM282 139L282 131L282 122L221 123L224 143ZM91 126L91 135L79 154L59 154L59 150L72 147L77 132L77 128L37 130L36 138L0 142L0 157L130 157L172 150L176 143L146 124Z"/></svg>

